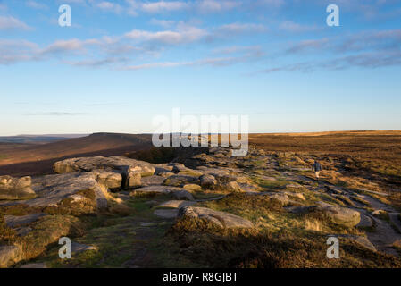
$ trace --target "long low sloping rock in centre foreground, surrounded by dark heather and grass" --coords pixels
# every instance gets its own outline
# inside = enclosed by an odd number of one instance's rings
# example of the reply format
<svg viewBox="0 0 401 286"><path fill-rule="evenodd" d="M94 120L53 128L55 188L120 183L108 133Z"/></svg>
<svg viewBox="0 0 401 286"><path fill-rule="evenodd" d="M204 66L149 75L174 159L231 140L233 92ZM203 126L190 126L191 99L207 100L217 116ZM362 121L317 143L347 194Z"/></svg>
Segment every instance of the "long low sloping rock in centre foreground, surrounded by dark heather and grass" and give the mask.
<svg viewBox="0 0 401 286"><path fill-rule="evenodd" d="M206 207L184 206L180 208L180 217L205 219L221 228L252 228L254 224L234 214L215 211Z"/></svg>

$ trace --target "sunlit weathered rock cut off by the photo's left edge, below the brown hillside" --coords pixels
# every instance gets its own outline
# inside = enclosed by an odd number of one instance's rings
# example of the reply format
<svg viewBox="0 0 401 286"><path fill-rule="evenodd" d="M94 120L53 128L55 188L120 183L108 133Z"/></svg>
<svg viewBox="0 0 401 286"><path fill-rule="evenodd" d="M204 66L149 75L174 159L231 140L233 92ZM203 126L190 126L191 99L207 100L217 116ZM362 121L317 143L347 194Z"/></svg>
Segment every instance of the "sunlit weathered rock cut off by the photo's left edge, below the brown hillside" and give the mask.
<svg viewBox="0 0 401 286"><path fill-rule="evenodd" d="M0 199L29 199L35 196L35 192L31 189L30 177L0 176Z"/></svg>

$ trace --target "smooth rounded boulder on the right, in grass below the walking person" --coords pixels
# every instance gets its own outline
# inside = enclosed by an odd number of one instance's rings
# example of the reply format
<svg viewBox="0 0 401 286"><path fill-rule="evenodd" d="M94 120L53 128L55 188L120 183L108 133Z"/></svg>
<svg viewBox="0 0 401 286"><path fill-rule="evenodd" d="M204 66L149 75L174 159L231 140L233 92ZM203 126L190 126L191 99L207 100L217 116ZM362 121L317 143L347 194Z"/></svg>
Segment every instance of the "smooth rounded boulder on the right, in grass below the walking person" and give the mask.
<svg viewBox="0 0 401 286"><path fill-rule="evenodd" d="M328 215L333 223L338 223L347 227L353 227L361 221L361 214L347 207L332 206L321 202L316 206L316 209Z"/></svg>

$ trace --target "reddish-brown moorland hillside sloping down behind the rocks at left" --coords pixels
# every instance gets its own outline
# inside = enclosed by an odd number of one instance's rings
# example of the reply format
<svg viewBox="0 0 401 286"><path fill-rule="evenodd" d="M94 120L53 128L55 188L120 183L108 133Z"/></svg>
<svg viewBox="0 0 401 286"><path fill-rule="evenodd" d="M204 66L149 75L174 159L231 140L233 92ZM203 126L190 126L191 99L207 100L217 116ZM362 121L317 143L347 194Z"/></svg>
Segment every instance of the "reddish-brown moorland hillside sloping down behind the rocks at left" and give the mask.
<svg viewBox="0 0 401 286"><path fill-rule="evenodd" d="M0 175L51 173L54 162L75 156L122 156L152 147L152 135L94 133L40 144L0 143Z"/></svg>

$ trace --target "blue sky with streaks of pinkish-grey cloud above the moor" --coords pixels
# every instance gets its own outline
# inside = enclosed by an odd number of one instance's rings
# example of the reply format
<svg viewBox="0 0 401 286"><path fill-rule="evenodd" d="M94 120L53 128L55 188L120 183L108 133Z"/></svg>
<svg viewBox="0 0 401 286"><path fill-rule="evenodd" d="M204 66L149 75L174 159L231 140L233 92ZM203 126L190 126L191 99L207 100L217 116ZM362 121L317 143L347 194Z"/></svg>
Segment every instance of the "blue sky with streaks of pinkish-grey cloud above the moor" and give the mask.
<svg viewBox="0 0 401 286"><path fill-rule="evenodd" d="M174 108L400 130L401 0L0 0L0 106L0 136L152 133Z"/></svg>

